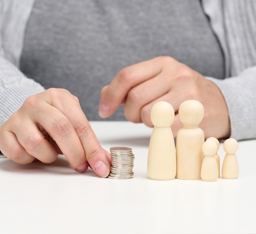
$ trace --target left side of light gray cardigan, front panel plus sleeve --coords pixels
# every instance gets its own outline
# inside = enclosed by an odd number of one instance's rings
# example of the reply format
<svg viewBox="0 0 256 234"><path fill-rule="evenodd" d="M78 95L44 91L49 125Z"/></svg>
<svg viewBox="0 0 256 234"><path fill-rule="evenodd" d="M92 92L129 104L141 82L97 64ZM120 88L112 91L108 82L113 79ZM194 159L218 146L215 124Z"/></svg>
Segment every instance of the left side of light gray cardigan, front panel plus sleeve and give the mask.
<svg viewBox="0 0 256 234"><path fill-rule="evenodd" d="M44 90L18 69L23 37L34 0L0 0L0 125L24 100Z"/></svg>

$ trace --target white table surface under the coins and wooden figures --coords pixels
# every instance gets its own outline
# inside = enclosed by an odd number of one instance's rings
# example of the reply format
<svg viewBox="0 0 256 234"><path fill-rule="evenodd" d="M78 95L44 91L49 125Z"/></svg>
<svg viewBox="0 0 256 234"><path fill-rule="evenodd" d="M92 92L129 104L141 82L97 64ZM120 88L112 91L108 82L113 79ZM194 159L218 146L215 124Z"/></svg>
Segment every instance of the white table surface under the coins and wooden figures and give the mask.
<svg viewBox="0 0 256 234"><path fill-rule="evenodd" d="M147 178L151 128L91 122L101 145L131 147L131 179L74 172L52 164L18 165L0 158L0 234L256 233L256 140L239 142L235 180L154 181ZM225 152L218 152L222 164Z"/></svg>

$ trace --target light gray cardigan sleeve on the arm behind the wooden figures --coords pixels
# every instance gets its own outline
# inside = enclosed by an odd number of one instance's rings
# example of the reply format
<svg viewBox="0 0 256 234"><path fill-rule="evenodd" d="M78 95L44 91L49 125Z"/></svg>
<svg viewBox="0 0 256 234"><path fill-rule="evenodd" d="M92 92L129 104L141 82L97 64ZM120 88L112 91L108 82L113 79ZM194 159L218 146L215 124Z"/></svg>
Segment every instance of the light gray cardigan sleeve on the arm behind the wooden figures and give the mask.
<svg viewBox="0 0 256 234"><path fill-rule="evenodd" d="M231 136L236 140L256 138L256 66L236 77L218 80L207 77L222 92L229 111Z"/></svg>

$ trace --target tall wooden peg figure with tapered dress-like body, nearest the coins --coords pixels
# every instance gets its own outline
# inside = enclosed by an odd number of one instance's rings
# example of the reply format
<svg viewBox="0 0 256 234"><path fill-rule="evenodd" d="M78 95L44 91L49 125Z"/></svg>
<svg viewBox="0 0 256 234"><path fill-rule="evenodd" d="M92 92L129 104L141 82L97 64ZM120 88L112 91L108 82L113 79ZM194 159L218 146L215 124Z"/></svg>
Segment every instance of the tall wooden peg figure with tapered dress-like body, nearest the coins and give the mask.
<svg viewBox="0 0 256 234"><path fill-rule="evenodd" d="M171 124L174 109L167 102L153 105L150 118L154 125L148 147L148 178L172 180L176 175L176 154Z"/></svg>

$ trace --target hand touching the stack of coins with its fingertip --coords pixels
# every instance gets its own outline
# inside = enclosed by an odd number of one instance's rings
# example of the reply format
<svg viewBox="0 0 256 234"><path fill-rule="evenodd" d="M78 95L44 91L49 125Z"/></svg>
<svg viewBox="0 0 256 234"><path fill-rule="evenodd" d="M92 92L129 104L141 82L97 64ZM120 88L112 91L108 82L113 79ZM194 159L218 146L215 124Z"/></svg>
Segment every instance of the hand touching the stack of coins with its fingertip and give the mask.
<svg viewBox="0 0 256 234"><path fill-rule="evenodd" d="M0 150L20 164L35 158L52 163L64 154L78 172L89 165L98 176L110 172L110 154L99 144L78 98L65 89L47 89L27 98L0 126Z"/></svg>

